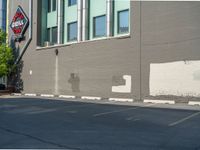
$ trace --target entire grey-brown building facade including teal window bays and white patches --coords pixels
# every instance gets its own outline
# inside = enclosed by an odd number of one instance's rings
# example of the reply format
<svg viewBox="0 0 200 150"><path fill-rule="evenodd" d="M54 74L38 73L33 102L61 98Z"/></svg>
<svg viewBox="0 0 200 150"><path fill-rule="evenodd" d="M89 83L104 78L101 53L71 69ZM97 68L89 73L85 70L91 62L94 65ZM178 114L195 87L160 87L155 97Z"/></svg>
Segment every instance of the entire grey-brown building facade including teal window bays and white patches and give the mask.
<svg viewBox="0 0 200 150"><path fill-rule="evenodd" d="M13 22L19 7L28 18L22 36L9 29L23 93L134 100L200 97L199 2L9 3L14 31L23 29Z"/></svg>

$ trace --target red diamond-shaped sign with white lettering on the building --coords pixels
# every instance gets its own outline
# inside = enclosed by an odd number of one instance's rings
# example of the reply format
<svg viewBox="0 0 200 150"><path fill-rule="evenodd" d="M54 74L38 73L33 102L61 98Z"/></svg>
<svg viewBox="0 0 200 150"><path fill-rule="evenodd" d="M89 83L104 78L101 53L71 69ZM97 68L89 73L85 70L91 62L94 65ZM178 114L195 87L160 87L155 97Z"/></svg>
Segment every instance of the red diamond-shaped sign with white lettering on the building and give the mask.
<svg viewBox="0 0 200 150"><path fill-rule="evenodd" d="M26 28L28 27L28 23L29 20L26 17L26 14L24 13L23 9L20 6L18 6L17 11L10 24L10 28L13 30L17 38L23 36L24 32L26 31Z"/></svg>

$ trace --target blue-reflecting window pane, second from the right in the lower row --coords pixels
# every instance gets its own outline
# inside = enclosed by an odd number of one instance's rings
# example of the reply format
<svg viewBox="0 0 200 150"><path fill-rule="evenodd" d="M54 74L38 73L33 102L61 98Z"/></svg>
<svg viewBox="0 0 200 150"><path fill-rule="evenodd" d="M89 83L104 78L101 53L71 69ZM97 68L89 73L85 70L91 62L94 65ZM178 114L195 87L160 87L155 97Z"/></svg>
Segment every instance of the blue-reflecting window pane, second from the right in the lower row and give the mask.
<svg viewBox="0 0 200 150"><path fill-rule="evenodd" d="M106 35L106 16L94 17L93 37L103 37Z"/></svg>

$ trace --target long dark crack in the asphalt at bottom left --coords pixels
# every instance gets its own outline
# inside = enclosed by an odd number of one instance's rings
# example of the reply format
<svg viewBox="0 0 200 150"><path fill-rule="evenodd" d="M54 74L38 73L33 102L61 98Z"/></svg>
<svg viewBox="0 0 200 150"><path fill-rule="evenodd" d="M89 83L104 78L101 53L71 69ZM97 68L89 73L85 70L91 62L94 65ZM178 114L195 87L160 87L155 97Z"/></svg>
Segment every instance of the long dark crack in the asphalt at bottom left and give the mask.
<svg viewBox="0 0 200 150"><path fill-rule="evenodd" d="M62 145L62 144L58 144L58 143L55 143L55 142L47 141L47 140L41 139L39 137L35 137L35 136L29 135L29 134L26 134L26 133L14 131L14 130L11 130L11 129L8 129L8 128L5 128L5 127L0 127L0 129L3 130L3 131L6 131L6 132L12 133L12 134L22 135L22 136L37 140L37 141L42 142L42 143L51 144L51 145L57 146L57 147L62 148L62 149L80 150L80 148L68 147L66 145Z"/></svg>

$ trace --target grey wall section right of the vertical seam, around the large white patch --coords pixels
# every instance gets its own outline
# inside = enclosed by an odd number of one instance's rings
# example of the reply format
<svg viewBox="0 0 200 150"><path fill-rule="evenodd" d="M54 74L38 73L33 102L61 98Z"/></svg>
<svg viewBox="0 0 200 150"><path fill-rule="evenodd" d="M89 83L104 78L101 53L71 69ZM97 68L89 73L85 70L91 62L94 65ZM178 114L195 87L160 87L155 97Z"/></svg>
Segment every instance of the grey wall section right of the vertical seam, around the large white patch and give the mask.
<svg viewBox="0 0 200 150"><path fill-rule="evenodd" d="M200 2L142 2L143 97L149 95L150 64L200 60L199 14Z"/></svg>

